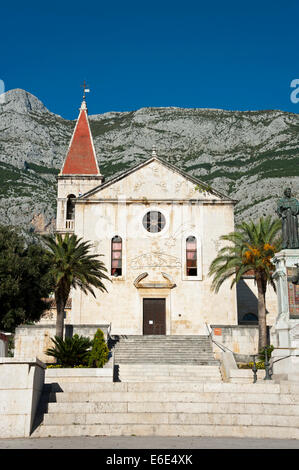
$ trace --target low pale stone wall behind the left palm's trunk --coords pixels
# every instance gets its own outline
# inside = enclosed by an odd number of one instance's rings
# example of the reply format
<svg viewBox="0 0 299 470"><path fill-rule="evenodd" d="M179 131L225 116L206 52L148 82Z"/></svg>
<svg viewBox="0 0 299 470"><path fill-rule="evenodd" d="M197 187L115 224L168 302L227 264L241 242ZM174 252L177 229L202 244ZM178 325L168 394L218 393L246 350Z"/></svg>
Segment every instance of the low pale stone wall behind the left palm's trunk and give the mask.
<svg viewBox="0 0 299 470"><path fill-rule="evenodd" d="M87 336L93 339L97 329L100 328L107 340L110 325L65 325L65 336L74 334ZM55 325L24 325L16 328L15 333L15 357L36 356L41 361L53 363L55 359L47 356L45 351L53 347L51 338L55 336Z"/></svg>

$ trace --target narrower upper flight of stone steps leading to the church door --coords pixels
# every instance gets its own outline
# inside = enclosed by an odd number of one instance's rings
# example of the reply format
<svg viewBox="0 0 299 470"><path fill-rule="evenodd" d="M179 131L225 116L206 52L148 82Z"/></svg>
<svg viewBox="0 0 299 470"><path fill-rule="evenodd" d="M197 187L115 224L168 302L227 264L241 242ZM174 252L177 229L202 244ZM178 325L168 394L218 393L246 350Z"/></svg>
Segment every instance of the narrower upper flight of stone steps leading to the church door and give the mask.
<svg viewBox="0 0 299 470"><path fill-rule="evenodd" d="M121 382L221 381L208 336L119 336L112 347Z"/></svg>

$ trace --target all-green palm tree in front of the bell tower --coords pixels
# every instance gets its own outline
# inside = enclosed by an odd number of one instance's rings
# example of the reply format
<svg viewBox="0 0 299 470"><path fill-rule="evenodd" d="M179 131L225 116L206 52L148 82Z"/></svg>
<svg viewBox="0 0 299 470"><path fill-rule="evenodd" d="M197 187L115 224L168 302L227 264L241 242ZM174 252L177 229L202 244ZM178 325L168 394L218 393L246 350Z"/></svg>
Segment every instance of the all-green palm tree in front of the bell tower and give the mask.
<svg viewBox="0 0 299 470"><path fill-rule="evenodd" d="M107 292L103 280L107 269L98 256L90 254L92 244L82 242L82 238L68 233L62 237L60 234L45 235L45 243L51 262L50 275L54 284L54 295L57 309L56 336L63 338L64 309L70 294L71 287L79 287L85 294L90 292L96 297L93 287Z"/></svg>

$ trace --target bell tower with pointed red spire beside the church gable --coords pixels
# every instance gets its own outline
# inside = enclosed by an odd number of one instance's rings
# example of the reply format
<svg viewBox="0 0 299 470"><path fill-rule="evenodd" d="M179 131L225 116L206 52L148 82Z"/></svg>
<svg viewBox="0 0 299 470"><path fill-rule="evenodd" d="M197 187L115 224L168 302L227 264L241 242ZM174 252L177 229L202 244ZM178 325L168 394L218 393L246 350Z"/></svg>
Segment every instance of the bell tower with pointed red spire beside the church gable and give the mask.
<svg viewBox="0 0 299 470"><path fill-rule="evenodd" d="M75 201L87 191L99 186L104 178L99 170L93 139L83 101L67 155L58 175L56 231L74 232Z"/></svg>

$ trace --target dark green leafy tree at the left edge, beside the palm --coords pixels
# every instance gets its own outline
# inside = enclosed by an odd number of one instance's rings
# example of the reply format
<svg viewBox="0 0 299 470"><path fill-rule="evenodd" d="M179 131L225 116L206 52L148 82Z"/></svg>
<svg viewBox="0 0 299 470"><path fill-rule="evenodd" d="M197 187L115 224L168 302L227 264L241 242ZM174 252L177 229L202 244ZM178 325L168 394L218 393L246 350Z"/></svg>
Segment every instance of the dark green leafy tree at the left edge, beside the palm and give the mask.
<svg viewBox="0 0 299 470"><path fill-rule="evenodd" d="M0 329L36 322L48 308L49 259L38 240L0 226Z"/></svg>

